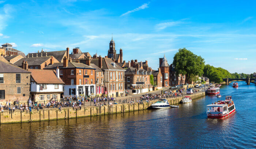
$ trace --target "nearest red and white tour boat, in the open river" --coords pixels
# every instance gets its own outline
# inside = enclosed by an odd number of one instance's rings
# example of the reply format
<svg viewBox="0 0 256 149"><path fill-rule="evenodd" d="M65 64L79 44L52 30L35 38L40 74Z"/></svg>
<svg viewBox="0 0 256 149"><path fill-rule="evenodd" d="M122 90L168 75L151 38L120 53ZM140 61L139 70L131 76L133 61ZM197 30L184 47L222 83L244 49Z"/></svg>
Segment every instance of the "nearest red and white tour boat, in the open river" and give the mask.
<svg viewBox="0 0 256 149"><path fill-rule="evenodd" d="M226 96L225 101L218 101L206 107L208 109L206 112L208 118L222 119L236 112L231 96Z"/></svg>

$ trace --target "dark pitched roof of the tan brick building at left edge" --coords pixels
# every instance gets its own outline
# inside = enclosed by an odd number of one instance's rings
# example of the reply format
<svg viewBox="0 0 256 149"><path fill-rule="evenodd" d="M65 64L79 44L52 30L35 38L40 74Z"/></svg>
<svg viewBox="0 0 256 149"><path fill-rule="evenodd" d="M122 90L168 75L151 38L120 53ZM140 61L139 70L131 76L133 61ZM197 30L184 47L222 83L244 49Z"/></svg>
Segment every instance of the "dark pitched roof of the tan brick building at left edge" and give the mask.
<svg viewBox="0 0 256 149"><path fill-rule="evenodd" d="M20 67L14 66L13 64L6 63L0 60L0 73L30 73L30 72Z"/></svg>

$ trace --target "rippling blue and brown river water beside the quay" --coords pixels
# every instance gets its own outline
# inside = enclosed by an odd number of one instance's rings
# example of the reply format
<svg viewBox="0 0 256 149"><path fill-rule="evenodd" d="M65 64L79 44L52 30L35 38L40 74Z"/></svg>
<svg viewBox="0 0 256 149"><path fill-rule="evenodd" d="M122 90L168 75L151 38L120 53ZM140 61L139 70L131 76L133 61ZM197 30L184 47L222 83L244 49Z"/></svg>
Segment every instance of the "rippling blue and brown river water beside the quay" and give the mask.
<svg viewBox="0 0 256 149"><path fill-rule="evenodd" d="M214 96L180 108L144 110L58 121L2 124L0 148L256 148L256 86L222 85L237 112L207 119Z"/></svg>

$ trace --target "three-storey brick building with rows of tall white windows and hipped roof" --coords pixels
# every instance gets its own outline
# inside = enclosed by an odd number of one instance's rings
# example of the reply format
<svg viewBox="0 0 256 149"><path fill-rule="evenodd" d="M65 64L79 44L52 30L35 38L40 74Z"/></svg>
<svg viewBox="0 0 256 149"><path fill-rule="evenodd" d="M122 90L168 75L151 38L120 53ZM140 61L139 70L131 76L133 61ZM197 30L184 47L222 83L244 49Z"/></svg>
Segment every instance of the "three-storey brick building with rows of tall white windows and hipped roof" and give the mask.
<svg viewBox="0 0 256 149"><path fill-rule="evenodd" d="M104 72L104 86L105 93L110 97L120 97L124 96L124 69L121 68L112 59L93 58L91 63L95 64L97 67L101 68Z"/></svg>

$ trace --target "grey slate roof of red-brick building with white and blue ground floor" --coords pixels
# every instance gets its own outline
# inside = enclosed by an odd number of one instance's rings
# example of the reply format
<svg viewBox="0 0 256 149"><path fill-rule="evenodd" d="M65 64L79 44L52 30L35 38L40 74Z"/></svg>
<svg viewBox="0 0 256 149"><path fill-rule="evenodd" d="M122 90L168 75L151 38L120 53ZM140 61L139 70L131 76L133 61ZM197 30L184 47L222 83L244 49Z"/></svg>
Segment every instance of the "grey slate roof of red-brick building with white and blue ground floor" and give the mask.
<svg viewBox="0 0 256 149"><path fill-rule="evenodd" d="M63 63L53 63L52 65L48 65L46 66L44 69L56 69L57 66L59 68L64 68L63 67ZM83 63L75 63L75 62L68 62L68 67L65 68L89 68L89 69L95 69L91 66L88 66L86 64Z"/></svg>

